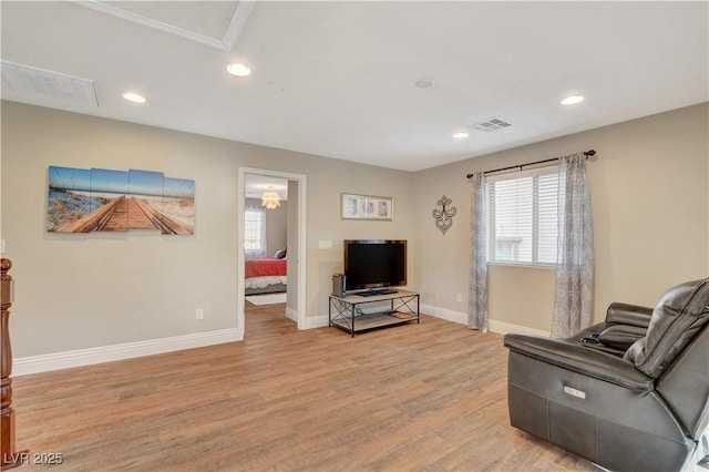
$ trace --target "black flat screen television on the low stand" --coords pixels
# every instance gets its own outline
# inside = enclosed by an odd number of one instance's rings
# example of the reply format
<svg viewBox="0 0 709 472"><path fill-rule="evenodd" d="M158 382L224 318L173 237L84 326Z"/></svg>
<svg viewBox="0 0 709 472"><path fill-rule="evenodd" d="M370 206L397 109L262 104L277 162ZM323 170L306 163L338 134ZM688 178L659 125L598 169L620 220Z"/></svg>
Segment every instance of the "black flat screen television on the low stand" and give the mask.
<svg viewBox="0 0 709 472"><path fill-rule="evenodd" d="M345 288L359 295L394 293L386 287L407 285L407 242L345 240Z"/></svg>

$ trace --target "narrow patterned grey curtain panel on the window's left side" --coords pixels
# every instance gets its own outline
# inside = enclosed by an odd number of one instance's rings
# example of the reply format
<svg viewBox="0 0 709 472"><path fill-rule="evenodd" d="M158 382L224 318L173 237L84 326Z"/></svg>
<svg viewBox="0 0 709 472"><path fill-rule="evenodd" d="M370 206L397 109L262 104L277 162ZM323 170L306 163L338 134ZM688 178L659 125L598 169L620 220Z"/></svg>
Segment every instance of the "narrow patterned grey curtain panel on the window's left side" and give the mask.
<svg viewBox="0 0 709 472"><path fill-rule="evenodd" d="M469 178L471 194L470 277L467 281L467 327L487 331L487 228L485 177L482 172Z"/></svg>

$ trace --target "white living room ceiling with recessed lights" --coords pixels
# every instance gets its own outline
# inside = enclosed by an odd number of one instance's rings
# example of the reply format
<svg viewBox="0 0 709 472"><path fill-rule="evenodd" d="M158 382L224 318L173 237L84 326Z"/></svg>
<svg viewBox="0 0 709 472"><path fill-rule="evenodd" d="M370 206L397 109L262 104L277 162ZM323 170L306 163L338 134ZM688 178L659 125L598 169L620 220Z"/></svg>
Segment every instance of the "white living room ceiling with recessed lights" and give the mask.
<svg viewBox="0 0 709 472"><path fill-rule="evenodd" d="M707 1L0 6L2 60L93 81L97 105L4 100L407 171L709 100ZM452 137L491 117L512 126Z"/></svg>

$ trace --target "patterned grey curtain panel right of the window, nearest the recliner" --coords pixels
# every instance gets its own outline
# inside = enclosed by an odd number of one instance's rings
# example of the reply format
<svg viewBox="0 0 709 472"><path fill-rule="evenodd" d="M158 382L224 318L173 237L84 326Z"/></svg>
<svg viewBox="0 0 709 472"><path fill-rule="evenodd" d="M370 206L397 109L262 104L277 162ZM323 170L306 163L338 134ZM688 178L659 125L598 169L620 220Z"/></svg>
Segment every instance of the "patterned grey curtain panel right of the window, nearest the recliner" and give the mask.
<svg viewBox="0 0 709 472"><path fill-rule="evenodd" d="M586 158L559 160L558 264L552 337L569 337L590 325L594 284L594 232L586 183Z"/></svg>

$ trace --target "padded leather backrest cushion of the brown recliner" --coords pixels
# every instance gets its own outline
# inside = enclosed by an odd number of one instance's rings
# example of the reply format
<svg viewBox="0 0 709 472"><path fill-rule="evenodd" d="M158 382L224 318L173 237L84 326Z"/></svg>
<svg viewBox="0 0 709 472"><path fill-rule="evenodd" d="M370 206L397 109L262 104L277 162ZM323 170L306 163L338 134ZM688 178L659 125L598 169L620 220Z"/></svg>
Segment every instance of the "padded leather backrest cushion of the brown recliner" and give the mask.
<svg viewBox="0 0 709 472"><path fill-rule="evenodd" d="M709 322L709 279L688 281L667 290L657 302L645 338L624 359L657 379Z"/></svg>

